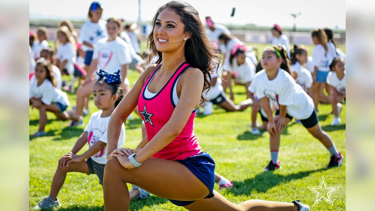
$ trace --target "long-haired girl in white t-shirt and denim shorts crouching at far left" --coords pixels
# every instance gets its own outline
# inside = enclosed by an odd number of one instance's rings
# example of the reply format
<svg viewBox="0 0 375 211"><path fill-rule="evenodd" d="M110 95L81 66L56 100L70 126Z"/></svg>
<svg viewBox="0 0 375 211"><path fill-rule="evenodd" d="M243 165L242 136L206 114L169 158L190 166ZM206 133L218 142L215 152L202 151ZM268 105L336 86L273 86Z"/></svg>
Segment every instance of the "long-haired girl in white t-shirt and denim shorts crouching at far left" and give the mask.
<svg viewBox="0 0 375 211"><path fill-rule="evenodd" d="M69 106L68 96L56 88L52 65L48 60L40 59L36 63L35 78L30 81L29 101L31 107L39 110L39 130L31 135L32 137L45 135L47 111L54 113L61 120L67 120L69 117L65 111Z"/></svg>

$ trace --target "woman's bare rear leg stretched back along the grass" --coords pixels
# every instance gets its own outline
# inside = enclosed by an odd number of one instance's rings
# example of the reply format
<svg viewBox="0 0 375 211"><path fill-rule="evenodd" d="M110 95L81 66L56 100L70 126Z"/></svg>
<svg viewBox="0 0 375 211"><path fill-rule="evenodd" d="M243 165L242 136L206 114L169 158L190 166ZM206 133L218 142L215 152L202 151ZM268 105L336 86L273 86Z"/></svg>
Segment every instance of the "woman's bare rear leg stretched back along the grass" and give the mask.
<svg viewBox="0 0 375 211"><path fill-rule="evenodd" d="M294 203L272 202L252 199L234 204L229 202L220 193L214 190L215 196L210 199L197 200L184 208L190 211L297 211L298 206Z"/></svg>

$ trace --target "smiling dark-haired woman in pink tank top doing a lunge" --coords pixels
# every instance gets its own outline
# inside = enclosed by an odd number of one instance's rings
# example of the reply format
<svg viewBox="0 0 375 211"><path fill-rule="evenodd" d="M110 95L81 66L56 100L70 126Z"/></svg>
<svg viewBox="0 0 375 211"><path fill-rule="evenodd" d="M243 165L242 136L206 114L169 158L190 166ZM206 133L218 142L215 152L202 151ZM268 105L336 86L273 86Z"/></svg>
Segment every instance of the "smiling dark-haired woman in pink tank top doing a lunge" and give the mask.
<svg viewBox="0 0 375 211"><path fill-rule="evenodd" d="M161 6L147 44L151 56L159 56L157 64L139 76L108 123L104 209L129 209L126 183L189 210L297 211L305 206L299 201L264 200L237 205L213 190L215 164L202 152L193 127L195 109L202 102L202 92L210 87L210 72L220 54L207 38L198 12L178 1ZM133 149L116 148L121 124L137 105L148 144L135 154Z"/></svg>

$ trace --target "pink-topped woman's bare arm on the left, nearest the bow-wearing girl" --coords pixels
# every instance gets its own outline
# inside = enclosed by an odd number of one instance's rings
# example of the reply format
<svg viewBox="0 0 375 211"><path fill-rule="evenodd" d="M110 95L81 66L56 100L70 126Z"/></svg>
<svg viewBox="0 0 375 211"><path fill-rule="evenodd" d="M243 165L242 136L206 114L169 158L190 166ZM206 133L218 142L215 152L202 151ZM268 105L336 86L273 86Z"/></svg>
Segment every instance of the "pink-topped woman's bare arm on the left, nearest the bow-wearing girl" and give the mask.
<svg viewBox="0 0 375 211"><path fill-rule="evenodd" d="M134 86L126 93L120 104L113 111L110 121L108 122L107 131L107 157L112 151L117 149L118 137L120 137L121 125L126 118L133 112L138 104L138 98L142 87L147 78L156 69L156 65L148 66L139 76Z"/></svg>

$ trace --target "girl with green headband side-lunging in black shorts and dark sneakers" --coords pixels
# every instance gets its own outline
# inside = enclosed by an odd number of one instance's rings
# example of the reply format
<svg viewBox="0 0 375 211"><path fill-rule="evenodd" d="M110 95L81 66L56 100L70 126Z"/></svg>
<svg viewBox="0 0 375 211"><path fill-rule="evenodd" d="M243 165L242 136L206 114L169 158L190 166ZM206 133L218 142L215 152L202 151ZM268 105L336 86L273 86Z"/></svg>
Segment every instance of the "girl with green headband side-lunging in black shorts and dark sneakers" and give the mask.
<svg viewBox="0 0 375 211"><path fill-rule="evenodd" d="M328 149L331 159L327 167L340 166L344 156L336 149L329 134L320 127L312 99L291 77L285 49L266 47L262 55L262 67L264 69L255 75L253 83L269 119L267 130L271 135L271 161L264 170L272 171L281 167L278 160L280 135L293 118L299 119L309 133ZM270 102L277 108L274 117Z"/></svg>

